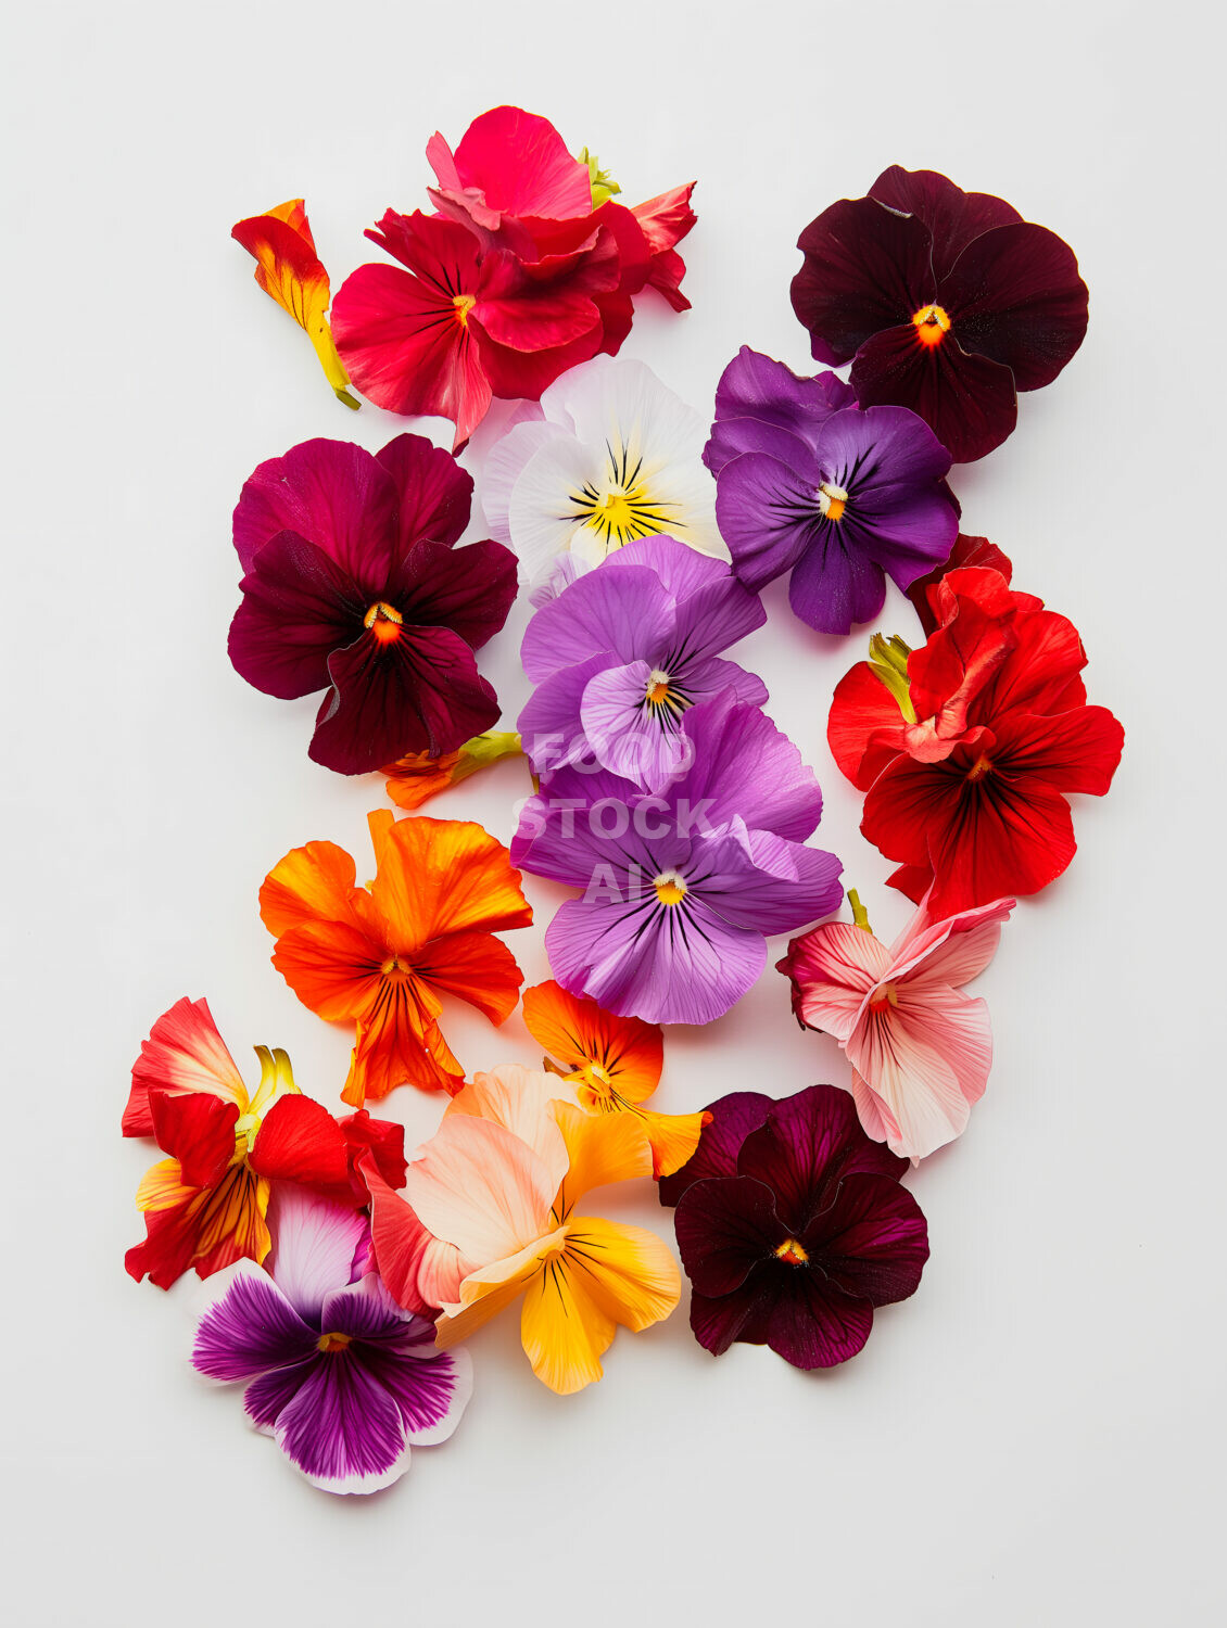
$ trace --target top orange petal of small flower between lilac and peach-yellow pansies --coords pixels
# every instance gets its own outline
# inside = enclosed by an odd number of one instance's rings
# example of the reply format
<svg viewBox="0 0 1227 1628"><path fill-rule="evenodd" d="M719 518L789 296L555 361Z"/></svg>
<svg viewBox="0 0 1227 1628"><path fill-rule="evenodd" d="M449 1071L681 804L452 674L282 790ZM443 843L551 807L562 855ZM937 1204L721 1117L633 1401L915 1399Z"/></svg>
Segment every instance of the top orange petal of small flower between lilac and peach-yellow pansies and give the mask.
<svg viewBox="0 0 1227 1628"><path fill-rule="evenodd" d="M552 978L525 990L525 1022L567 1070L592 1086L613 1086L627 1102L642 1102L660 1083L665 1042L658 1024L614 1017Z"/></svg>

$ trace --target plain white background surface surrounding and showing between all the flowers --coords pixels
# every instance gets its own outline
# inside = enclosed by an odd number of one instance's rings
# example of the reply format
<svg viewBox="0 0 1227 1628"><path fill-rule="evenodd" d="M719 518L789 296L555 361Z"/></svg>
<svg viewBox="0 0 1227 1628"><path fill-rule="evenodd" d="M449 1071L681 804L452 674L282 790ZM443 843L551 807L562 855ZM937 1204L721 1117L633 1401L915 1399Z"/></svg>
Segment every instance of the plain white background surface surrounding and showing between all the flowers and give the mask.
<svg viewBox="0 0 1227 1628"><path fill-rule="evenodd" d="M5 1224L0 1578L20 1625L1207 1623L1222 1608L1222 34L1209 7L28 5L7 29ZM637 202L699 177L694 311L649 295L624 355L702 412L741 342L807 365L800 228L890 163L1066 236L1090 334L1014 438L955 470L987 534L1082 630L1126 726L1080 851L976 993L997 1040L963 1140L911 1177L932 1260L865 1351L803 1376L714 1361L684 1306L559 1398L508 1315L473 1341L455 1439L375 1499L313 1491L187 1366L199 1289L134 1284L147 1146L119 1138L142 1035L207 995L236 1057L285 1045L337 1105L349 1037L269 965L266 871L365 861L378 778L306 757L314 702L231 671L230 511L311 435L380 448L230 241L305 194L332 285L424 205L422 148L499 101L588 143ZM430 427L443 440L446 427ZM466 462L476 467L487 435ZM474 524L473 536L481 536ZM825 746L862 635L782 584L738 658L823 781L818 842L903 921ZM895 594L882 625L914 637ZM523 614L482 658L515 715ZM504 765L430 812L504 840ZM528 881L531 980L562 897ZM772 946L774 949L774 946ZM782 944L779 946L782 951ZM777 952L779 952L777 951ZM774 961L772 954L772 961ZM533 1061L456 1008L469 1068ZM657 1104L844 1079L767 972L666 1039ZM430 1133L438 1104L388 1104ZM609 1213L668 1232L653 1195Z"/></svg>

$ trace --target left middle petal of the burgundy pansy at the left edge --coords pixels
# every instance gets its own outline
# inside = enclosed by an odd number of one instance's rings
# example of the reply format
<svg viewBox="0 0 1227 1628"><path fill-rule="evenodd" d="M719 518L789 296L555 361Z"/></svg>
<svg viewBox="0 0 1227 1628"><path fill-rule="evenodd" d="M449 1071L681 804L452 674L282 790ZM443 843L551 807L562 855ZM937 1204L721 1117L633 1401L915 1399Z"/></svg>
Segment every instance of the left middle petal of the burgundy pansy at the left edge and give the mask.
<svg viewBox="0 0 1227 1628"><path fill-rule="evenodd" d="M235 671L266 695L293 700L329 682L328 658L350 643L367 601L347 571L292 531L262 545L230 624Z"/></svg>

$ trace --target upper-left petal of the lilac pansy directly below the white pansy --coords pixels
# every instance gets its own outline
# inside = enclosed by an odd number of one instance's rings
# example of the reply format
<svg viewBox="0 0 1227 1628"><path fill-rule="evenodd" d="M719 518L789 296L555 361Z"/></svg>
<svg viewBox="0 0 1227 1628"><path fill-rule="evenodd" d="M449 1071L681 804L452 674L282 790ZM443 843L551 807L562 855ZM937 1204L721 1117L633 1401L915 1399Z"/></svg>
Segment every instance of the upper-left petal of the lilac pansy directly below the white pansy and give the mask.
<svg viewBox="0 0 1227 1628"><path fill-rule="evenodd" d="M559 667L611 653L634 661L665 645L673 632L673 601L647 567L608 571L598 567L543 606L525 630L520 661L533 684Z"/></svg>

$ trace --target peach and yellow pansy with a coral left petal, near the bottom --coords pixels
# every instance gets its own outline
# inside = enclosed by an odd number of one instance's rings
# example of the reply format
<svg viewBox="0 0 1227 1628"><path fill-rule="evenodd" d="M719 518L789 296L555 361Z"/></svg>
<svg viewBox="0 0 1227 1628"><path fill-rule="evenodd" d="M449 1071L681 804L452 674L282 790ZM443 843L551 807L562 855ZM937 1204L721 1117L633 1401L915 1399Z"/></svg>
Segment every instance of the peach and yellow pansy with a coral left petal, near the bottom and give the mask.
<svg viewBox="0 0 1227 1628"><path fill-rule="evenodd" d="M601 1377L618 1327L678 1304L681 1276L644 1228L577 1214L595 1187L645 1179L652 1148L631 1114L585 1114L567 1086L523 1068L477 1074L409 1166L399 1198L372 1174L375 1258L401 1304L442 1306L442 1350L523 1299L525 1354L562 1395Z"/></svg>

